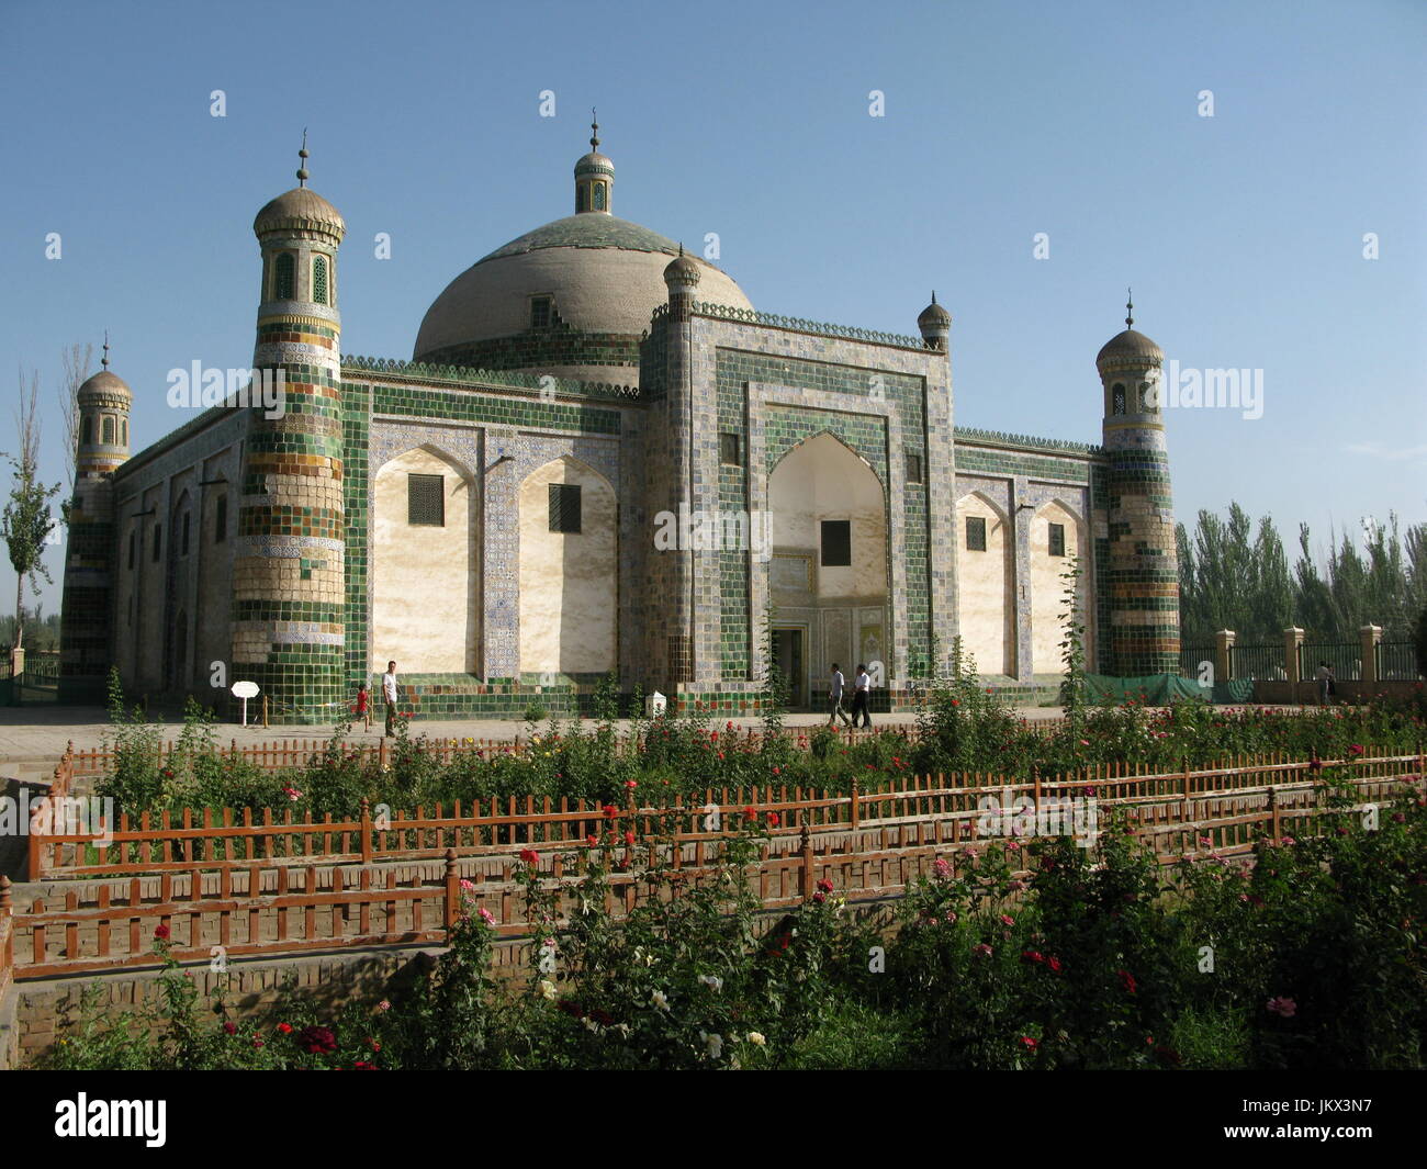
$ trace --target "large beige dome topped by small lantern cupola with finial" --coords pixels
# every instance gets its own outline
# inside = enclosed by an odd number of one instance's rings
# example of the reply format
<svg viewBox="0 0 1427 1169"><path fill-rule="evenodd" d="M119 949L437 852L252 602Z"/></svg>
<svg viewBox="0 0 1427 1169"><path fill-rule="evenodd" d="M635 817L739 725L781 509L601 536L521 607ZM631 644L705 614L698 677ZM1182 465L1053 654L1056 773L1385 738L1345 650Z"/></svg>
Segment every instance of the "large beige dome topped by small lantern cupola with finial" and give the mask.
<svg viewBox="0 0 1427 1169"><path fill-rule="evenodd" d="M639 338L668 301L664 270L679 246L609 213L614 163L575 164L575 214L527 231L452 280L421 321L414 357L635 384ZM702 301L748 308L743 290L695 257Z"/></svg>

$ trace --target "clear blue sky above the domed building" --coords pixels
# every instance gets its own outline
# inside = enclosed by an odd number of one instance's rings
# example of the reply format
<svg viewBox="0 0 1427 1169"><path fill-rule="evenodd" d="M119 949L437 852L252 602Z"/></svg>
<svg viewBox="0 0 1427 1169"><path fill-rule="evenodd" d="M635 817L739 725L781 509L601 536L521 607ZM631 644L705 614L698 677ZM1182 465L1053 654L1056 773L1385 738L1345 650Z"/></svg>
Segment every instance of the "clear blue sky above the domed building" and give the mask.
<svg viewBox="0 0 1427 1169"><path fill-rule="evenodd" d="M1099 441L1133 284L1167 358L1263 371L1260 418L1169 413L1182 521L1427 520L1423 0L0 0L0 448L36 368L50 480L70 343L110 331L136 450L191 417L168 370L251 363L304 127L342 350L410 358L451 278L571 213L598 106L615 213L718 233L759 308L915 333L935 288L962 425Z"/></svg>

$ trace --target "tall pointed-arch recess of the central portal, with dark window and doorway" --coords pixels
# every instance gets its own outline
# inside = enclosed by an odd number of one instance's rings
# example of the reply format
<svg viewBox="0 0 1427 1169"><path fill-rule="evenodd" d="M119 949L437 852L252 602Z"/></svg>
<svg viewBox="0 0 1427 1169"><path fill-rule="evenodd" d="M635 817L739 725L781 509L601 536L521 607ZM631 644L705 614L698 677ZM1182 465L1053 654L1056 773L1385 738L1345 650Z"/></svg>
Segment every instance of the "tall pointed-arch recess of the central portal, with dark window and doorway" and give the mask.
<svg viewBox="0 0 1427 1169"><path fill-rule="evenodd" d="M821 704L836 662L892 677L886 495L860 455L828 432L793 447L768 482L773 655L793 705Z"/></svg>

